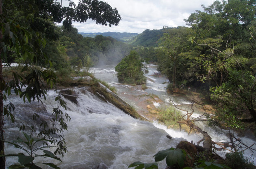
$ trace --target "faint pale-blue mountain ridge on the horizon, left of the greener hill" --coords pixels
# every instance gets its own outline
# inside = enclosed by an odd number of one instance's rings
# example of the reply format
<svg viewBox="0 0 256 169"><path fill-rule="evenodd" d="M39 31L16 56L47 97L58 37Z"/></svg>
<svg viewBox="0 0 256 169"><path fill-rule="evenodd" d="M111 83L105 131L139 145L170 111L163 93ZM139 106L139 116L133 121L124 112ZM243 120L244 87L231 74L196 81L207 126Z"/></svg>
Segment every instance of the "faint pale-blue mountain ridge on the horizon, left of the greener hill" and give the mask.
<svg viewBox="0 0 256 169"><path fill-rule="evenodd" d="M83 37L91 37L94 38L97 35L102 35L102 36L111 36L112 38L115 38L116 40L119 40L121 42L128 42L131 40L133 37L137 36L137 33L120 33L120 32L104 32L104 33L84 33L84 32L78 32L81 34Z"/></svg>

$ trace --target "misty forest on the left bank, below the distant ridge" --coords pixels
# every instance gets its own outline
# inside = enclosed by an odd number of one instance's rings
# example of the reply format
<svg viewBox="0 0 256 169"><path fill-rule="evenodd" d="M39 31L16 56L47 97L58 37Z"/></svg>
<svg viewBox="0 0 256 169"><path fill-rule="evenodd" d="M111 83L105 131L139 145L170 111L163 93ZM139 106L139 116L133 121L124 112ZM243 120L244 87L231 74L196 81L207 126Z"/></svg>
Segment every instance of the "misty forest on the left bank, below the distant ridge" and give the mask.
<svg viewBox="0 0 256 169"><path fill-rule="evenodd" d="M83 37L73 26L70 30L65 30L64 26L54 27L58 39L48 41L43 52L48 56L55 70L70 69L71 65L82 68L87 55L93 61L93 66L115 65L128 55L131 49L128 44L111 37L102 35L97 35L95 38ZM19 60L22 62L22 59L15 56L12 58L13 60L9 57L8 62Z"/></svg>

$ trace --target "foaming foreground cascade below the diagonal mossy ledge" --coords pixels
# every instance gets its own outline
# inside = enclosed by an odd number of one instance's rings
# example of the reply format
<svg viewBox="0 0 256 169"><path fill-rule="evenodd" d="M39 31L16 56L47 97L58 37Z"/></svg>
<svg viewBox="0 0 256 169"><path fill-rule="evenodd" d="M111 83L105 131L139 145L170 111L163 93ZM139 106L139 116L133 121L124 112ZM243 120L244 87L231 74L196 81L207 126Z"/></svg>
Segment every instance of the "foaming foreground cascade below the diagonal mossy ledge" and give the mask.
<svg viewBox="0 0 256 169"><path fill-rule="evenodd" d="M152 123L136 120L90 92L83 94L80 89L75 91L78 94L78 106L65 99L67 113L72 119L64 135L68 152L61 158L63 162L54 161L63 169L91 169L100 163L110 169L121 169L135 161L154 162L152 156L156 152L175 147L182 140L169 140L166 138L167 133ZM51 100L56 97L54 91L50 91L49 96ZM22 104L17 97L12 97L11 101L16 105ZM45 104L49 104L49 99ZM34 103L30 108L37 110L38 106ZM19 109L17 111L24 111ZM46 106L46 109L51 112L51 106ZM11 126L9 123L8 129L5 129L6 139L16 137L19 133L16 126ZM17 153L17 149L7 144L6 154L9 153ZM15 161L17 158L7 157L7 166ZM40 161L49 162L49 159ZM159 167L164 166L165 163L161 163Z"/></svg>

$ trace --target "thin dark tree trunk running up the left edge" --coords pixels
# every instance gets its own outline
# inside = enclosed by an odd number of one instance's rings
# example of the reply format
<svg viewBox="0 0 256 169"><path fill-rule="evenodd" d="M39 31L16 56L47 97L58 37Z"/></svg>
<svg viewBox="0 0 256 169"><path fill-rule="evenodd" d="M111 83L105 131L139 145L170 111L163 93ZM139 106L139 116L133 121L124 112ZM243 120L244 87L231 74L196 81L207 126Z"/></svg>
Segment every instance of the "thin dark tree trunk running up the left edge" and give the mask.
<svg viewBox="0 0 256 169"><path fill-rule="evenodd" d="M2 15L2 0L0 0L0 15ZM0 32L0 41L2 41L3 35ZM0 49L0 55L2 49ZM0 82L3 81L2 75L2 58L0 58ZM3 114L3 91L0 90L0 155L4 155L4 114ZM5 157L0 157L0 168L5 168Z"/></svg>

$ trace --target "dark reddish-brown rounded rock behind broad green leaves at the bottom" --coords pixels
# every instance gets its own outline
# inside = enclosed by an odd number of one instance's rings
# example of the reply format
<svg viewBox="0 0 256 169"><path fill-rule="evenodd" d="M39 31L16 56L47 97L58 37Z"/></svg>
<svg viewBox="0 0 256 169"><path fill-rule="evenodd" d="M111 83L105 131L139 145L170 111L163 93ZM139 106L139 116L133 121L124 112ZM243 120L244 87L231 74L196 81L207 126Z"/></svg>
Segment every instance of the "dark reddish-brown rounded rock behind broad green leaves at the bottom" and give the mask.
<svg viewBox="0 0 256 169"><path fill-rule="evenodd" d="M186 159L184 160L184 166L186 167L193 167L194 163L195 163L195 155L197 154L197 149L195 148L195 146L193 144L191 144L190 142L187 141L181 141L176 148L180 148L185 150L185 152L187 152L187 154L189 156L191 156L191 158L189 158L188 156L186 156Z"/></svg>

